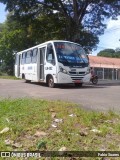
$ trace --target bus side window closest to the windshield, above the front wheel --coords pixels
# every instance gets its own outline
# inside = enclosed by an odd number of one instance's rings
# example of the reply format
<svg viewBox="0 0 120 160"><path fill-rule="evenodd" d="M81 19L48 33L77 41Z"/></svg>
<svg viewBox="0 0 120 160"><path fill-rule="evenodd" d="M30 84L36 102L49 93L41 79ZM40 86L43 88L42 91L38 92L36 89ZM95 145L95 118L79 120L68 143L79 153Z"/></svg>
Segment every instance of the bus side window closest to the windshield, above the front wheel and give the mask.
<svg viewBox="0 0 120 160"><path fill-rule="evenodd" d="M48 44L47 46L46 60L51 64L55 64L55 56L52 44Z"/></svg>

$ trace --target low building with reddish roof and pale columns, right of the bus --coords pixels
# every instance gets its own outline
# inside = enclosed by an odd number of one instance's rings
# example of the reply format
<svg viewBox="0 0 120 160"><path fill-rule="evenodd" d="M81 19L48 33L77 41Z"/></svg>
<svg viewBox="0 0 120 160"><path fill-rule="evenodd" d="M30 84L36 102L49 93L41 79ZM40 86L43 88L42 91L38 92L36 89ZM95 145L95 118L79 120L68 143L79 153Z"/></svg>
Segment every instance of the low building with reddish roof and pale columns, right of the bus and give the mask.
<svg viewBox="0 0 120 160"><path fill-rule="evenodd" d="M89 55L89 61L100 79L120 80L120 58Z"/></svg>

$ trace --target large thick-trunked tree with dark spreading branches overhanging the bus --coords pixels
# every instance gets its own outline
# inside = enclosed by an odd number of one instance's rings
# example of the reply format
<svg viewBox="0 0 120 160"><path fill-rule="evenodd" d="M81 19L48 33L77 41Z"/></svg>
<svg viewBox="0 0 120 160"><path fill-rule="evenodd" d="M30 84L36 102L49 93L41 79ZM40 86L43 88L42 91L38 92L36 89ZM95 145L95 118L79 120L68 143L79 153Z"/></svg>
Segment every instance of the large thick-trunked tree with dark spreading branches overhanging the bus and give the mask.
<svg viewBox="0 0 120 160"><path fill-rule="evenodd" d="M83 46L96 47L98 35L104 33L105 19L120 14L118 0L0 0L15 17L36 19L46 13L64 19L64 39L77 41ZM56 24L56 21L53 22ZM39 26L40 28L41 26ZM50 32L50 31L49 31ZM86 38L87 37L87 38ZM87 40L86 40L87 39Z"/></svg>

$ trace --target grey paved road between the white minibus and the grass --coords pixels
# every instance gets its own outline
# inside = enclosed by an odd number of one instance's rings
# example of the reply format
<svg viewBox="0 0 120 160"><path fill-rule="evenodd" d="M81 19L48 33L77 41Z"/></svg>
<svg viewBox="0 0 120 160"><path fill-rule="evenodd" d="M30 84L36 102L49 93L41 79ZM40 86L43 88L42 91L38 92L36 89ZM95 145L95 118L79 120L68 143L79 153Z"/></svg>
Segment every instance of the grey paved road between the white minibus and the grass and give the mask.
<svg viewBox="0 0 120 160"><path fill-rule="evenodd" d="M75 102L85 109L120 112L120 84L90 84L82 88L72 85L48 88L36 83L24 83L22 80L0 79L1 98L36 97L49 100Z"/></svg>

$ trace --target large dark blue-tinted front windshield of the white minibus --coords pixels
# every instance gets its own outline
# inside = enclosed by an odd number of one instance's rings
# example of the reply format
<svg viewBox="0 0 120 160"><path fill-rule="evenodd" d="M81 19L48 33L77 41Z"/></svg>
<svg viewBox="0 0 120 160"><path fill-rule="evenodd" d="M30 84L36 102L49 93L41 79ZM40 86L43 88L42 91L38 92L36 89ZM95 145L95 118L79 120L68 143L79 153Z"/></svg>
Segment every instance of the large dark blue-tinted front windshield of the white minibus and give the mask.
<svg viewBox="0 0 120 160"><path fill-rule="evenodd" d="M87 67L88 58L79 44L70 42L54 42L58 62L64 66Z"/></svg>

